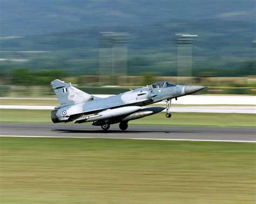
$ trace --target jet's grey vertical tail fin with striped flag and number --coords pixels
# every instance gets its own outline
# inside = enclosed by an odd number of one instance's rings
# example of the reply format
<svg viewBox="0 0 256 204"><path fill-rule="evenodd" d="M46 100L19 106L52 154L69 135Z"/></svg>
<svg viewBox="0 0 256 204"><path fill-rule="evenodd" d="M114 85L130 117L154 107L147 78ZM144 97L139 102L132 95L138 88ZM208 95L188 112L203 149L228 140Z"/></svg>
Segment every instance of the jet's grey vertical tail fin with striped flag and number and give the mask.
<svg viewBox="0 0 256 204"><path fill-rule="evenodd" d="M72 87L71 83L65 83L58 79L51 82L51 89L54 90L60 105L77 104L93 100L92 95Z"/></svg>

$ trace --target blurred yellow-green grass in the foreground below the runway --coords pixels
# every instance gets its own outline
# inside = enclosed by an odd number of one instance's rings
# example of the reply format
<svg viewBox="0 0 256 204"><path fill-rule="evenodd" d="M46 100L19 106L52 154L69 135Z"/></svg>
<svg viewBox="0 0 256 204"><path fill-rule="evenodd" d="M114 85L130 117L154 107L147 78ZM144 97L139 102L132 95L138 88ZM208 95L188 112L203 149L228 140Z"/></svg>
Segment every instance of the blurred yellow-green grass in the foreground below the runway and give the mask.
<svg viewBox="0 0 256 204"><path fill-rule="evenodd" d="M254 203L255 144L0 138L1 203Z"/></svg>

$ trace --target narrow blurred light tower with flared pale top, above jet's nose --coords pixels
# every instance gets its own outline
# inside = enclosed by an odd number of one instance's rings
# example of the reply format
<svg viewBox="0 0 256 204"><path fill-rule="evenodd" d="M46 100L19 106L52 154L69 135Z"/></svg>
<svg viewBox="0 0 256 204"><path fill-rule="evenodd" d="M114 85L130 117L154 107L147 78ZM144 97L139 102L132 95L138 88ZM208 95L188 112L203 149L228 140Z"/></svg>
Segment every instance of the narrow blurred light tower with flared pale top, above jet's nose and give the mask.
<svg viewBox="0 0 256 204"><path fill-rule="evenodd" d="M177 43L177 76L192 76L192 44L197 34L176 33ZM182 82L180 80L179 82ZM186 80L191 83L191 80Z"/></svg>

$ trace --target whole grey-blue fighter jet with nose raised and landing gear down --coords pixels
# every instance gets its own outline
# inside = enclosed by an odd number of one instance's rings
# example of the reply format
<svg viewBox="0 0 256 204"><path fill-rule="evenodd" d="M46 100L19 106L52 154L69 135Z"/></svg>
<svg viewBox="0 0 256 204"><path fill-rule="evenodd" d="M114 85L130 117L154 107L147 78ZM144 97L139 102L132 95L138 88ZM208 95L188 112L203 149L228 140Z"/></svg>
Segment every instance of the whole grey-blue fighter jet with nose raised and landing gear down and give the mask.
<svg viewBox="0 0 256 204"><path fill-rule="evenodd" d="M170 118L171 100L180 96L198 92L206 87L174 85L170 82L158 82L143 88L138 88L118 95L100 98L79 90L58 79L51 82L59 106L51 112L53 123L93 122L108 130L111 124L119 123L121 130L128 128L128 122L133 119L157 114L164 107L143 107L152 103L166 101L166 117Z"/></svg>

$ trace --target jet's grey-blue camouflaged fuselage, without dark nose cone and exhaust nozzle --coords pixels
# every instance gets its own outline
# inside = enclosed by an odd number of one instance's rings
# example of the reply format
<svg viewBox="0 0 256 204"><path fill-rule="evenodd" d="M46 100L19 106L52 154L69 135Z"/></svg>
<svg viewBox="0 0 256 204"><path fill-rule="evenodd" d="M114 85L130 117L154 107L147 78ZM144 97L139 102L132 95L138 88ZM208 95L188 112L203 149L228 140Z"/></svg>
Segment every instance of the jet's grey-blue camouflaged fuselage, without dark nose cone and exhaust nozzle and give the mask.
<svg viewBox="0 0 256 204"><path fill-rule="evenodd" d="M83 103L72 104L59 108L58 117L62 117L63 111L66 116L79 114L81 112L97 112L103 109L113 109L130 105L144 106L159 101L177 98L185 95L183 85L173 85L169 87L153 87L152 85L131 90L118 95L106 98L93 97L92 100Z"/></svg>

